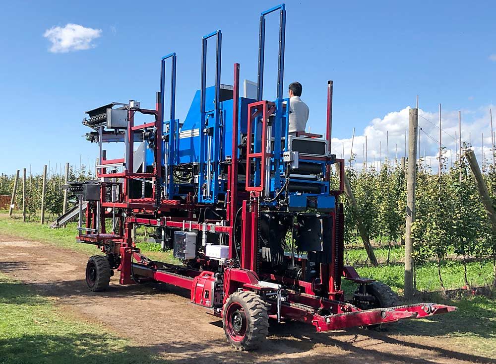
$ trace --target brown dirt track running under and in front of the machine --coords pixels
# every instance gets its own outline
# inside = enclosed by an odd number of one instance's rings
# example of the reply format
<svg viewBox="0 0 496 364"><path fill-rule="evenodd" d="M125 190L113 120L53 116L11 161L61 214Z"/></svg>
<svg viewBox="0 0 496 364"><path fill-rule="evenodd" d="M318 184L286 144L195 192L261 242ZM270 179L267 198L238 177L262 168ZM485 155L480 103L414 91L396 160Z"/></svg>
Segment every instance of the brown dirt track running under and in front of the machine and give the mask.
<svg viewBox="0 0 496 364"><path fill-rule="evenodd" d="M398 326L404 323L381 332L324 334L300 323L274 324L264 348L239 353L227 344L221 321L189 303L186 291L166 285L119 286L113 277L109 291L92 293L84 282L85 255L2 234L0 252L1 272L171 363L496 363L439 335L439 327L431 336L430 325L439 321L426 322L425 330L415 335L400 334Z"/></svg>

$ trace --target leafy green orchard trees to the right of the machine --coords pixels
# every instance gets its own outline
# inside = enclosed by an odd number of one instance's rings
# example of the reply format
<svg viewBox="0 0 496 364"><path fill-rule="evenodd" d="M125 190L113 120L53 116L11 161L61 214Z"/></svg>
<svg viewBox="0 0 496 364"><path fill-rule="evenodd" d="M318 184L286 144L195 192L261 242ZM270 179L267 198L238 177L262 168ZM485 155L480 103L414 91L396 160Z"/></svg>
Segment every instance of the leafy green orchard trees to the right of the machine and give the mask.
<svg viewBox="0 0 496 364"><path fill-rule="evenodd" d="M460 258L457 267L462 267L465 285L473 281L469 277L467 262L474 258L484 261L490 258L494 268L493 280L496 282L496 234L480 201L472 172L464 157L451 168L447 164L446 159L441 160L440 176L426 167L422 160L417 164L416 217L412 226L415 266L421 269L423 265L431 267L434 264L437 267L434 277L437 276L438 284L443 288L445 269L442 267L448 254L450 258ZM495 199L496 170L493 166L487 166L486 171L484 177L490 195ZM405 231L405 170L397 161L392 165L386 161L379 170L368 168L360 172L347 170L346 173L369 238L380 247L382 243L387 243L387 258L384 259L384 249L376 250L379 261L389 262L391 258L398 262L397 249L393 246L404 237ZM355 217L350 213L347 198L343 196L342 199L346 214L345 243L356 246L361 240ZM348 251L347 260L355 260L356 254ZM363 263L363 258L361 256L355 261Z"/></svg>

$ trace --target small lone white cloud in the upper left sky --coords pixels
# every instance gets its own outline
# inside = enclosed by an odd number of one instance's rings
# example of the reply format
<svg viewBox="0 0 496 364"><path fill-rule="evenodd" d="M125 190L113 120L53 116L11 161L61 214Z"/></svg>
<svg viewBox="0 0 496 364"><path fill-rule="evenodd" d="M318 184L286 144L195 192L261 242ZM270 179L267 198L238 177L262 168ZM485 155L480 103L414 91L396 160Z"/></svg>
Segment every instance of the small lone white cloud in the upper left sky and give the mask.
<svg viewBox="0 0 496 364"><path fill-rule="evenodd" d="M91 42L101 34L101 29L85 28L79 24L66 24L64 27L54 26L47 29L43 36L52 42L50 52L67 53L95 47Z"/></svg>

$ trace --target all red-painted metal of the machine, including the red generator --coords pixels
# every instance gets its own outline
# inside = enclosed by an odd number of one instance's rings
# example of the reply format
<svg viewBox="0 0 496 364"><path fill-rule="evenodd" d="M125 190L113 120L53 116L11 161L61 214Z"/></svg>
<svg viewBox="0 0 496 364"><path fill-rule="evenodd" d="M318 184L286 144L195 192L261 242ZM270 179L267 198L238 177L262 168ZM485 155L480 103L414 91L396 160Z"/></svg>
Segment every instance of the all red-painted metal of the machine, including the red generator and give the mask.
<svg viewBox="0 0 496 364"><path fill-rule="evenodd" d="M331 195L336 197L336 209L330 213L332 224L331 240L331 262L317 263L317 274L309 278L294 275L289 278L283 275L276 275L273 270L267 271L260 268L266 262L259 261L259 199L263 195L265 188L265 171L270 166L267 165L267 158L272 154L267 150L268 142L268 118L275 111L275 104L269 101L259 101L248 105L248 131L259 128L261 131L260 150L250 149L253 141L252 133L247 135L247 164L259 163L260 182L250 182L246 179L246 191L238 190L238 132L240 130L239 115L239 77L240 65L234 65L234 87L233 87L233 136L231 160L228 165L228 190L226 196L226 218L201 222L199 213L208 205L194 202L193 193L188 193L178 200L161 200L155 191L156 183L153 183L152 197L132 199L129 198L129 180L147 178L152 182L162 179L162 125L160 97L157 97L156 110L131 109L128 111L127 129L127 165L119 173L106 173L102 168L102 173L98 177L123 179L119 186L119 196L117 202L106 201L107 187L110 182L102 183L102 194L100 210L97 211L96 203L88 203L86 211L86 227L96 229L96 214L100 215L100 233L90 231L80 233L78 239L81 241L98 245L107 254L114 254L120 260L116 265L120 271L120 284L134 284L140 280L152 280L163 282L177 287L190 290L191 301L207 308L215 308L214 314L222 315L222 303L225 303L229 295L233 292L244 290L254 291L265 297L269 306L269 315L273 318L289 318L302 321L315 326L317 331L329 331L343 329L352 326L363 326L380 323L394 322L406 318L420 318L441 314L455 310L455 307L438 305L433 303L419 303L409 306L399 306L392 308L379 308L371 310L361 310L360 308L344 302L344 292L341 290L341 277L345 277L360 284L370 284L371 279L361 278L353 267L343 266L343 236L342 227L344 223L342 204L339 204L338 197L343 192L343 179L340 179L339 190L331 191ZM139 126L134 126L135 113L144 113L155 116L155 121ZM155 129L155 156L153 173L133 173L133 133L139 133L145 128ZM327 126L326 139L330 152L330 139L332 129L332 81L328 83L327 90ZM302 134L303 135L303 134ZM320 137L315 134L304 133L309 138ZM226 153L228 153L226 151ZM326 164L326 179L330 178L330 166L338 163L341 176L344 175L344 160L334 159L330 155L309 155L302 160L320 161ZM102 164L124 163L124 158L104 159ZM158 167L157 167L158 166ZM247 168L250 171L250 168ZM237 263L237 250L234 239L234 226L236 217L241 206L241 227L240 242L241 253L239 268ZM110 209L109 209L110 208ZM109 209L107 211L107 209ZM112 218L116 211L122 214L122 224L112 233L105 232L105 218ZM120 211L119 211L120 210ZM261 212L264 212L262 210ZM125 214L125 215L124 215ZM230 252L229 260L219 262L209 259L205 255L198 255L192 260L191 265L175 266L166 263L154 262L140 254L133 241L133 228L138 225L146 225L158 228L167 228L169 233L174 231L195 231L198 233L207 232L209 234L225 234L228 237ZM170 237L169 237L170 239ZM306 258L297 257L296 261L301 265L302 272L306 271ZM235 268L236 267L236 268ZM114 267L115 268L115 267ZM214 272L220 275L215 276ZM297 278L295 278L297 277ZM214 286L220 285L222 280L223 302L214 302L212 295ZM263 280L263 281L261 281ZM277 297L275 294L284 292L284 301L280 302L280 317L277 312ZM219 297L217 297L219 298ZM238 307L239 308L239 307Z"/></svg>

